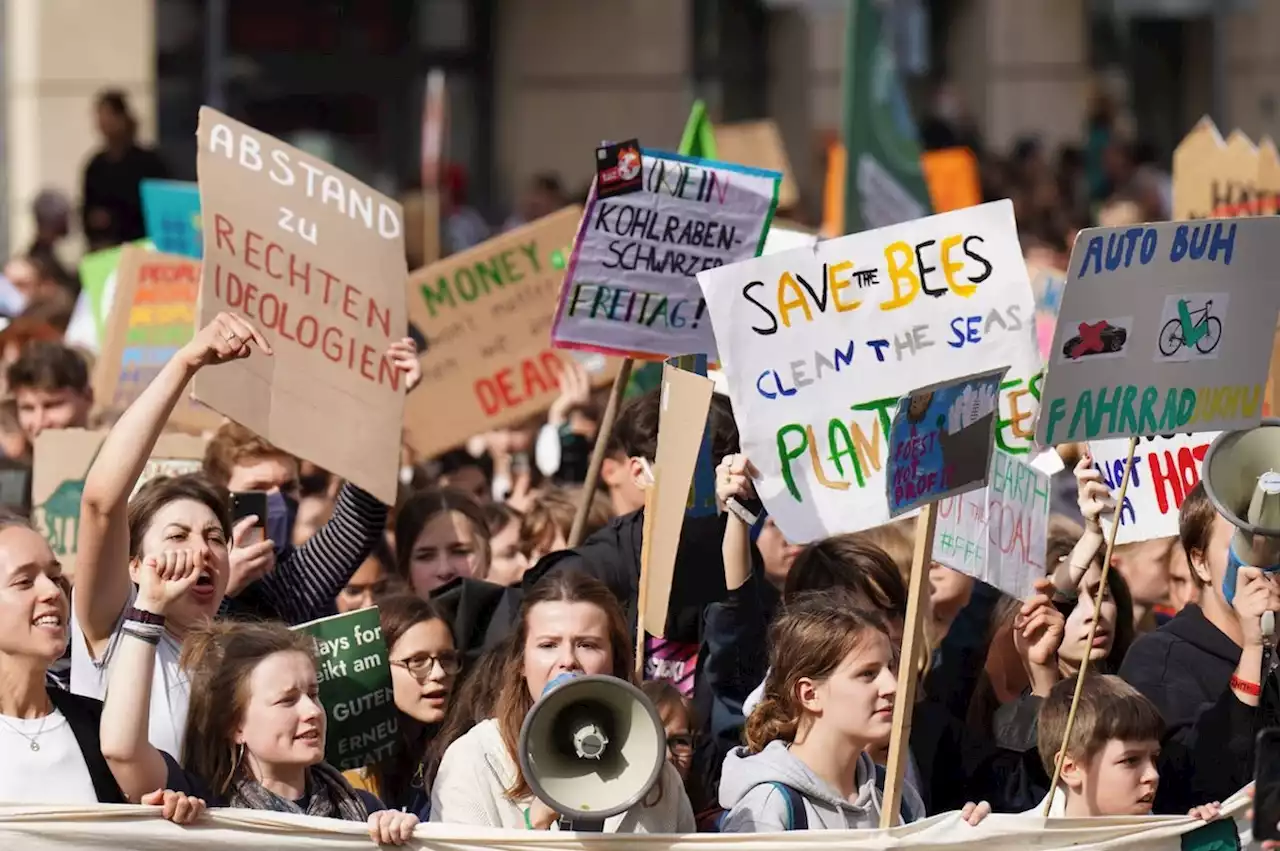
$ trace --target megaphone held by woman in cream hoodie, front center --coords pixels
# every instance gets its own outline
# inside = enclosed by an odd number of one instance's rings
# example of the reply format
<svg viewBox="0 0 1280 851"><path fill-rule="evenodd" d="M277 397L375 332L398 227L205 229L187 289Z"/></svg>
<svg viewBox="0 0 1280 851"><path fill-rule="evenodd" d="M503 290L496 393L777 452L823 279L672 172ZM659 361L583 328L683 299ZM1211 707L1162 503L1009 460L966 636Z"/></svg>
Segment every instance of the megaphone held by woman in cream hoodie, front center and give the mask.
<svg viewBox="0 0 1280 851"><path fill-rule="evenodd" d="M667 735L653 703L630 682L561 674L525 717L517 751L540 801L571 822L603 822L658 782Z"/></svg>

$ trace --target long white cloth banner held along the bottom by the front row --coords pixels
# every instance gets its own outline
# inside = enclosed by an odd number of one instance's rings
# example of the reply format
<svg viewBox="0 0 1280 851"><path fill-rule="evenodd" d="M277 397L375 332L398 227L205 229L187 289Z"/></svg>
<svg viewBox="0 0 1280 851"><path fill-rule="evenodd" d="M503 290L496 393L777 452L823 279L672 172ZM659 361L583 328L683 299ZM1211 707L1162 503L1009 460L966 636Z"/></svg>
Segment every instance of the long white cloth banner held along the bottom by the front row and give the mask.
<svg viewBox="0 0 1280 851"><path fill-rule="evenodd" d="M1224 805L1242 841L1248 800ZM0 847L15 851L370 851L362 824L256 810L211 810L192 827L177 827L157 807L0 807ZM1224 816L1224 818L1226 818ZM599 833L557 833L424 824L403 846L410 851L609 851L653 846L663 851L882 851L883 848L982 848L982 851L1180 851L1184 834L1206 827L1184 816L1042 819L992 815L978 827L957 813L936 815L892 831L796 831L773 834L654 836L652 839ZM1217 825L1208 825L1211 829ZM1219 847L1219 846L1212 846Z"/></svg>

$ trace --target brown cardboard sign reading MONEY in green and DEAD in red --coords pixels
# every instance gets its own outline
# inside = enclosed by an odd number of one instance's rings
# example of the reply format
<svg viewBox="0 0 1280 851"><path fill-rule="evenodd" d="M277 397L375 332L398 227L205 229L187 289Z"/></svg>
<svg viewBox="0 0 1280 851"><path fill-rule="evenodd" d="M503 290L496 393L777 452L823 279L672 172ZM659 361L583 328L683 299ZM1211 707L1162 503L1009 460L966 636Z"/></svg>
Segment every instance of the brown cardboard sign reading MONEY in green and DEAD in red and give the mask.
<svg viewBox="0 0 1280 851"><path fill-rule="evenodd" d="M419 453L438 454L556 401L571 353L553 349L549 331L580 216L566 207L410 278L410 321L426 340L422 384L404 403L406 438ZM593 383L612 381L621 362L594 360Z"/></svg>

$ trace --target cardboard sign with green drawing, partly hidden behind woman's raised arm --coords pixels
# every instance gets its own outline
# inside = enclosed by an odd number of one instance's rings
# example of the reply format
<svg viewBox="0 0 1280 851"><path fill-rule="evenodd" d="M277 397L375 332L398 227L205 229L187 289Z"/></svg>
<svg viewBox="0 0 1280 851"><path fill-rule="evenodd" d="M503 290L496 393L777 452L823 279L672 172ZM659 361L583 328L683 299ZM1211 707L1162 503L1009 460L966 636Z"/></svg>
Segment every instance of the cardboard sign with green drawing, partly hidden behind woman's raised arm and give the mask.
<svg viewBox="0 0 1280 851"><path fill-rule="evenodd" d="M106 431L52 429L36 438L31 481L31 521L68 575L76 572L79 505L84 476L106 440ZM138 476L137 489L157 476L200 470L205 441L184 434L161 434Z"/></svg>

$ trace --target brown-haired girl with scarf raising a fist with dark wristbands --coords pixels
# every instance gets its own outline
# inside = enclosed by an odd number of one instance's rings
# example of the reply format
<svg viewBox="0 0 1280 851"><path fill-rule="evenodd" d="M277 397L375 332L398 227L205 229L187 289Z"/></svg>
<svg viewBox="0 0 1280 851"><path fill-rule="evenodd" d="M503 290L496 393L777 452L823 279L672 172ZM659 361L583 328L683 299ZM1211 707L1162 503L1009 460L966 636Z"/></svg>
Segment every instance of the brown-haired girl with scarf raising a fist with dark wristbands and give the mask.
<svg viewBox="0 0 1280 851"><path fill-rule="evenodd" d="M201 790L215 806L292 813L367 824L370 837L404 845L419 819L387 810L324 761L325 712L315 641L274 623L216 623L193 631L182 667L191 676L191 718L182 763L147 741L156 645L172 608L205 569L204 549L143 559L137 610L111 664L102 706L102 755L120 790L138 800L160 783Z"/></svg>

